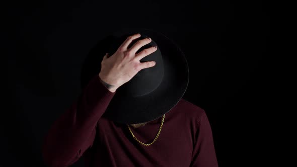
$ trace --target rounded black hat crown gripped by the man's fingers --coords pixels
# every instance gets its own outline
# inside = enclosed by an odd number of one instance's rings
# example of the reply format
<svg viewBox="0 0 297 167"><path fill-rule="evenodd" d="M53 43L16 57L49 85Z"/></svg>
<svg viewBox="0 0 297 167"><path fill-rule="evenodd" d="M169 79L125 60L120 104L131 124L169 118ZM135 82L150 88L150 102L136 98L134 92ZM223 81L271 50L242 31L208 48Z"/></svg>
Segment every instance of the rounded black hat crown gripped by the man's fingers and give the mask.
<svg viewBox="0 0 297 167"><path fill-rule="evenodd" d="M109 48L109 54L114 54L118 47L130 35L132 34L121 34L117 37L114 37L113 39L115 41L111 42L112 45ZM147 36L145 34L141 34L141 37L131 42L131 44L128 46L128 49L138 40L145 38L147 38ZM142 46L136 52L136 54L141 52L143 49L150 48L152 46L157 46L157 50L140 59L140 63L146 61L156 61L156 65L153 67L143 68L138 71L128 82L119 87L117 92L121 92L122 95L127 97L139 97L150 94L159 87L164 77L164 64L162 53L157 43L154 41L154 39L152 39L150 43Z"/></svg>

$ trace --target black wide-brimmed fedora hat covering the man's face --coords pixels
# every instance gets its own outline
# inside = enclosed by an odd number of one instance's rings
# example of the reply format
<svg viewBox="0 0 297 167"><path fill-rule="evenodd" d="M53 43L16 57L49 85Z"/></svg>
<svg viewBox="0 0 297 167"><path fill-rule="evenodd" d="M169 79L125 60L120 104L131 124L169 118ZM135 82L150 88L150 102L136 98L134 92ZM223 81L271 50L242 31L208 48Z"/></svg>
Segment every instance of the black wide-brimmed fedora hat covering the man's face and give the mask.
<svg viewBox="0 0 297 167"><path fill-rule="evenodd" d="M189 68L181 49L168 37L151 29L126 28L100 40L87 55L81 73L81 88L98 75L105 53L113 55L124 40L139 33L152 42L138 50L157 46L157 51L140 60L156 65L140 70L119 87L102 117L117 123L136 124L156 120L169 112L183 97L189 82ZM136 42L134 40L131 45ZM130 46L131 46L130 45Z"/></svg>

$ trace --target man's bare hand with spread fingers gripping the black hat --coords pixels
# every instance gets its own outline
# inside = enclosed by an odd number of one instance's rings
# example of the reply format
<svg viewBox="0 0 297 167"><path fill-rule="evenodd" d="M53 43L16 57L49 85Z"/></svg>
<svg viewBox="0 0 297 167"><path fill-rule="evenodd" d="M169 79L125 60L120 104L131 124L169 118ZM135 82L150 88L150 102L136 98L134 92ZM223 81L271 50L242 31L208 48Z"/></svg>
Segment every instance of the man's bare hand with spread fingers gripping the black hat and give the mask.
<svg viewBox="0 0 297 167"><path fill-rule="evenodd" d="M138 40L128 48L132 41L139 37L140 34L127 37L112 56L108 57L108 53L106 53L103 57L99 77L110 92L115 92L141 69L155 66L155 61L140 62L139 60L155 52L157 46L136 53L142 46L150 43L151 38Z"/></svg>

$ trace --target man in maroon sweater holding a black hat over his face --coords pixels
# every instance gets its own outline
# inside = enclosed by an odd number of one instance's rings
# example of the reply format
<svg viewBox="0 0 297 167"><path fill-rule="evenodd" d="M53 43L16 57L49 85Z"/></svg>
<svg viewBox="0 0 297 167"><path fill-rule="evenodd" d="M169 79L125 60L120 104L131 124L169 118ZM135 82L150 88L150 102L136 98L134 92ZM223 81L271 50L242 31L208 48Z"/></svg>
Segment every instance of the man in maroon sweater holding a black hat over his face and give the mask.
<svg viewBox="0 0 297 167"><path fill-rule="evenodd" d="M205 112L181 98L184 57L162 35L142 32L149 37L134 33L120 46L109 44L116 51L105 54L100 72L45 137L48 165L84 157L85 166L217 166Z"/></svg>

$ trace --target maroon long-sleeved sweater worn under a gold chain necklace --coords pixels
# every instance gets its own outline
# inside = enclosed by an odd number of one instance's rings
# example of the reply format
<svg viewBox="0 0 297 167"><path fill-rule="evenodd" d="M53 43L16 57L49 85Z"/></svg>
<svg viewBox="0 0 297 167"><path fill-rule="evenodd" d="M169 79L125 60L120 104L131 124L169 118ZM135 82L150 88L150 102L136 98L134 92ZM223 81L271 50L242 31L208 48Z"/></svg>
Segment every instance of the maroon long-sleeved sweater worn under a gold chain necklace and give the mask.
<svg viewBox="0 0 297 167"><path fill-rule="evenodd" d="M46 164L69 166L83 157L85 166L201 166L217 165L212 132L205 112L181 99L165 114L158 139L138 143L125 124L102 117L116 92L94 76L81 96L51 126L44 138ZM124 112L124 111L123 111ZM150 143L162 117L133 128L135 137Z"/></svg>

